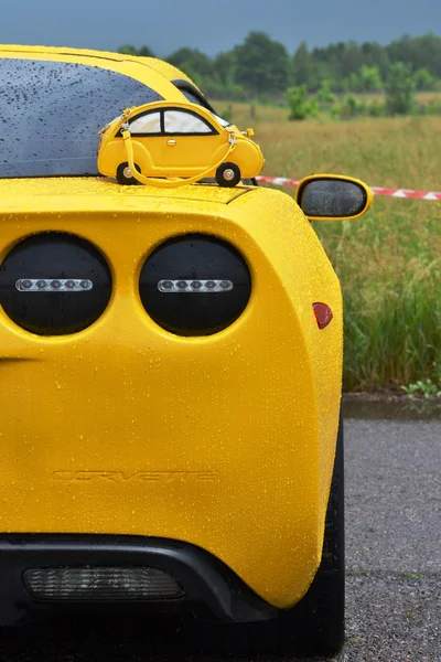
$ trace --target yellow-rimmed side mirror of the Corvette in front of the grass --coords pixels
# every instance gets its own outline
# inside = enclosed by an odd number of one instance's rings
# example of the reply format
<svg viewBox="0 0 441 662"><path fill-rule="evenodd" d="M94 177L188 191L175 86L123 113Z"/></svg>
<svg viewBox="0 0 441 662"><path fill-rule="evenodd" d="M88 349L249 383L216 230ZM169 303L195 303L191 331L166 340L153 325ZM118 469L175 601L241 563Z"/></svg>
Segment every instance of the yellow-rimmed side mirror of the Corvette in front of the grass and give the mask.
<svg viewBox="0 0 441 662"><path fill-rule="evenodd" d="M294 195L309 221L358 218L370 207L373 199L373 192L364 182L334 174L305 177Z"/></svg>

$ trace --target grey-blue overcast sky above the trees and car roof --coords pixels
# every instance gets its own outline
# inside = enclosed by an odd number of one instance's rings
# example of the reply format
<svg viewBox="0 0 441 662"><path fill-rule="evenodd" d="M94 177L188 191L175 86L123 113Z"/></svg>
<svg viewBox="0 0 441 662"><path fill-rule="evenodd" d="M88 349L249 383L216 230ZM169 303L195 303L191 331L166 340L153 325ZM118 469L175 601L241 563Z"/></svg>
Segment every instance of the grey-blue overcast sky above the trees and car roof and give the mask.
<svg viewBox="0 0 441 662"><path fill-rule="evenodd" d="M441 34L441 0L0 0L0 43L215 55L263 30L293 52L330 42Z"/></svg>

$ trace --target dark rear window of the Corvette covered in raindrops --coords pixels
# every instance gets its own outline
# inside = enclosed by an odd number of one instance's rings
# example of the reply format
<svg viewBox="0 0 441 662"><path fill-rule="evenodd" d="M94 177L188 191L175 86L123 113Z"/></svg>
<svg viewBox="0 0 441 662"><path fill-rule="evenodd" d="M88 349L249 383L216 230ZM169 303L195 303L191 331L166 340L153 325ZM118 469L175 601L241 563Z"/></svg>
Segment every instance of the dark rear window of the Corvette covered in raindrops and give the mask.
<svg viewBox="0 0 441 662"><path fill-rule="evenodd" d="M0 178L96 175L99 129L162 98L95 66L0 58Z"/></svg>

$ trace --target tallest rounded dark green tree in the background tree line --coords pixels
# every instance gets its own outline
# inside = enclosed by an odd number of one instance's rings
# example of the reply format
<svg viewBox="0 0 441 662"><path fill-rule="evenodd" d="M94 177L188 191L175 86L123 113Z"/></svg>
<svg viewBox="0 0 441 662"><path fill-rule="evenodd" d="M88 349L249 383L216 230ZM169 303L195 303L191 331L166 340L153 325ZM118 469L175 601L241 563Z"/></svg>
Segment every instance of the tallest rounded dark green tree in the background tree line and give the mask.
<svg viewBox="0 0 441 662"><path fill-rule="evenodd" d="M288 84L288 52L265 32L250 32L234 49L236 82L256 94L282 93Z"/></svg>

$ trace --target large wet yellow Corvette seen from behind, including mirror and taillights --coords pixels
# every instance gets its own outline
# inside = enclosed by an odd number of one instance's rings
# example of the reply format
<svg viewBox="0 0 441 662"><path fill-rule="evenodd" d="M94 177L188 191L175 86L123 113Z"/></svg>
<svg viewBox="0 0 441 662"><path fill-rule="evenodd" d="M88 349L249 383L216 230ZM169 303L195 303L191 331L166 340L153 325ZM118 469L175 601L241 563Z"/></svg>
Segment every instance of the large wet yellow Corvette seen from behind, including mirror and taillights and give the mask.
<svg viewBox="0 0 441 662"><path fill-rule="evenodd" d="M213 113L184 74L0 46L0 624L136 604L337 650L343 312L309 218L369 190L121 186L99 129Z"/></svg>

